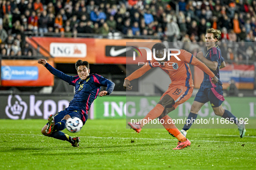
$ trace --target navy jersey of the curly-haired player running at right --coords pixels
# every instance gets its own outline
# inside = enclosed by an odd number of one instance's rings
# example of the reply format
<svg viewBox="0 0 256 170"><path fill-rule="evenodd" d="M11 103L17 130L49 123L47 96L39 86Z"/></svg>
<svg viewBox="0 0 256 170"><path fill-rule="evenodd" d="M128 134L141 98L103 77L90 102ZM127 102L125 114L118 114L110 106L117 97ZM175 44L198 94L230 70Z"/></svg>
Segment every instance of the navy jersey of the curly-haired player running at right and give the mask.
<svg viewBox="0 0 256 170"><path fill-rule="evenodd" d="M220 64L224 61L224 59L221 56L220 48L216 46L207 50L206 59L210 61L216 61L218 63L217 69L216 70L211 69L211 71L219 79L219 81L217 82L217 84L211 83L211 77L204 72L204 80L201 86L204 88L213 88L213 87L216 87L217 85L222 85L222 82L220 82Z"/></svg>

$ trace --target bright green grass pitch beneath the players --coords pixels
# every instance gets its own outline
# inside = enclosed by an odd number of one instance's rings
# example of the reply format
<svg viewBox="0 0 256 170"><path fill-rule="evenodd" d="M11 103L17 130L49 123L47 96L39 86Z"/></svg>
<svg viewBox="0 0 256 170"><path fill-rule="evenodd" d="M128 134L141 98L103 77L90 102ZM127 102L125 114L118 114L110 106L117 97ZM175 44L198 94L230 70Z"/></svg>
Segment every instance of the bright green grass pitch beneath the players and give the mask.
<svg viewBox="0 0 256 170"><path fill-rule="evenodd" d="M172 150L165 129L126 129L126 120L88 120L79 148L43 136L46 120L0 120L0 169L254 169L256 129L191 129L191 147ZM73 137L66 129L63 131ZM134 141L134 142L133 142Z"/></svg>

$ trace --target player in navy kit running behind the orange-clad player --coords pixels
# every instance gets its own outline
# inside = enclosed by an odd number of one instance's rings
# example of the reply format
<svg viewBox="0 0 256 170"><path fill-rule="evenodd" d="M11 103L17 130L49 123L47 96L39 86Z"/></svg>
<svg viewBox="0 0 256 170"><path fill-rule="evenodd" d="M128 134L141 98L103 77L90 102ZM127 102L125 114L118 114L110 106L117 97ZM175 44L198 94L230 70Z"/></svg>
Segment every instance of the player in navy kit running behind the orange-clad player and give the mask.
<svg viewBox="0 0 256 170"><path fill-rule="evenodd" d="M224 110L222 107L222 103L225 99L223 97L222 83L220 82L220 69L225 67L226 64L221 56L220 48L216 45L220 33L221 32L219 30L214 28L207 29L205 35L207 54L205 57L202 52L198 52L197 54L197 58L211 69L219 81L216 84L211 83L211 77L204 72L204 80L201 83L196 97L194 98L194 102L187 118L187 123L185 123L183 129L181 129L181 133L184 136L187 135L188 129L190 129L192 123L196 120L198 111L208 101L210 101L211 107L217 116L221 116L224 119L235 123L238 127L241 138L245 135L246 129L244 123L240 123L236 116L234 116L230 111Z"/></svg>

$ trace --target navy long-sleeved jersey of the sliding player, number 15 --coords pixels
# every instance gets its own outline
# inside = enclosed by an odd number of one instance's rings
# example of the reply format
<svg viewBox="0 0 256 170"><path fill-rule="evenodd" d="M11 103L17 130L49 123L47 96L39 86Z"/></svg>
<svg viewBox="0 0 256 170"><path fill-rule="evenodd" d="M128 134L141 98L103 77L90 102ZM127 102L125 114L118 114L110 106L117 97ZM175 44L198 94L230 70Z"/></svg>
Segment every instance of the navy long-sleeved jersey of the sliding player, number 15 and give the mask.
<svg viewBox="0 0 256 170"><path fill-rule="evenodd" d="M85 80L81 80L79 76L68 76L63 72L53 68L49 63L45 67L55 76L75 86L74 98L69 103L68 108L81 110L82 113L88 113L92 102L97 98L101 86L107 87L107 95L109 95L115 84L108 79L97 74L91 74Z"/></svg>

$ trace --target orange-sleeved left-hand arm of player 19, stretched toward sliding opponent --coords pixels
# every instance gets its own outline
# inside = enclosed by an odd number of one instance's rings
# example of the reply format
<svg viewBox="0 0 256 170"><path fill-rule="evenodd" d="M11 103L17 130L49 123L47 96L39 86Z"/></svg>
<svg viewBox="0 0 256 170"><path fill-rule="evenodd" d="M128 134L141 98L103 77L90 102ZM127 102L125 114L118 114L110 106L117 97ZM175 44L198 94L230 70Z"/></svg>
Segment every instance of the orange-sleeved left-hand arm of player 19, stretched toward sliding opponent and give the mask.
<svg viewBox="0 0 256 170"><path fill-rule="evenodd" d="M124 79L123 87L126 88L127 90L131 90L133 86L130 86L131 85L130 81L132 81L133 79L138 79L150 69L151 67L149 66L149 64L145 63L141 68L137 69L130 76Z"/></svg>

